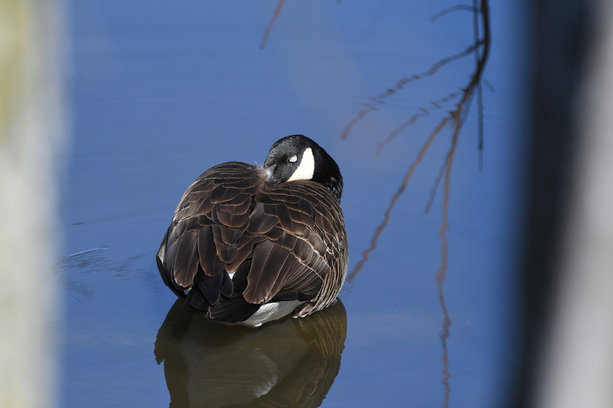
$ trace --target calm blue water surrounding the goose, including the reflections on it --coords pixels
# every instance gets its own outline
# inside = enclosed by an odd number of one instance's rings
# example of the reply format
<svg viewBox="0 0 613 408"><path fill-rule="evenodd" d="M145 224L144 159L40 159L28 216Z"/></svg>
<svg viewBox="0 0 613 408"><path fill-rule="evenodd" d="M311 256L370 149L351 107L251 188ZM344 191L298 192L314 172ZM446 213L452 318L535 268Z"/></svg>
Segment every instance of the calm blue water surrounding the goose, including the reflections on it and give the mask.
<svg viewBox="0 0 613 408"><path fill-rule="evenodd" d="M525 17L514 1L456 5L69 5L60 406L504 401ZM341 302L261 330L173 306L154 255L183 191L217 163L262 163L294 133L345 178Z"/></svg>

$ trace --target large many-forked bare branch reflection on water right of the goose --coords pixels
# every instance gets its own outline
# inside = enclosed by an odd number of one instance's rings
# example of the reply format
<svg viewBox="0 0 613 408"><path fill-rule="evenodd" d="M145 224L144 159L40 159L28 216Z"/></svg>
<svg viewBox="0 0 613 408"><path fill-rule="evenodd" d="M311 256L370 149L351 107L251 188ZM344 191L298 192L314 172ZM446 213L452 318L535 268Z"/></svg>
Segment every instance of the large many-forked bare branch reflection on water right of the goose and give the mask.
<svg viewBox="0 0 613 408"><path fill-rule="evenodd" d="M439 229L439 234L441 237L441 263L440 267L436 272L436 284L438 289L438 299L441 305L441 310L443 311L443 322L441 324L442 330L439 333L439 337L441 339L441 346L443 348L443 357L441 361L443 363L443 387L444 387L444 395L443 395L443 406L449 406L449 397L451 395L451 373L449 372L449 358L447 354L447 339L451 335L449 328L451 327L451 318L449 317L449 312L447 311L447 305L445 303L444 292L443 292L443 283L445 280L445 276L448 268L448 259L447 254L449 251L446 232L449 229L449 203L451 201L451 169L452 164L455 157L455 152L457 150L458 139L460 135L460 131L462 130L463 125L466 122L466 117L468 115L468 110L470 108L473 97L477 95L477 103L478 103L478 149L479 149L479 168L482 167L482 149L483 149L483 102L482 102L482 76L485 69L485 64L489 57L490 50L490 20L489 20L489 4L487 0L481 0L481 6L477 7L477 1L473 1L473 7L470 6L457 6L452 7L451 9L443 10L442 12L436 14L432 20L436 20L440 17L443 17L447 13L459 11L459 10L469 10L473 13L473 32L474 32L474 42L472 45L468 46L465 50L460 53L453 54L452 56L441 59L436 62L436 64L432 65L430 69L425 72L417 73L414 75L406 76L401 80L397 81L395 86L389 87L386 91L381 94L370 97L370 102L364 103L364 108L361 109L355 117L353 117L348 124L345 126L343 131L341 132L341 139L346 139L349 136L354 125L357 122L364 119L366 114L371 111L377 110L377 106L384 105L386 103L386 99L391 97L392 95L397 94L399 91L405 88L409 83L417 80L421 80L428 76L433 76L445 65L450 64L451 62L462 59L463 57L469 56L470 54L474 54L475 59L475 67L474 72L470 76L470 80L465 87L460 89L459 91L453 91L443 98L439 98L438 100L432 100L428 103L428 106L422 106L417 109L419 112L413 114L413 116L409 117L409 119L402 124L398 125L392 132L387 135L384 140L379 143L376 153L378 154L383 147L393 141L393 139L398 136L403 130L405 130L410 125L413 125L417 122L420 117L427 116L432 114L433 111L438 110L443 112L443 106L445 103L455 100L460 97L459 102L456 103L455 108L449 111L446 116L442 117L440 122L433 128L428 138L425 140L424 144L422 144L421 149L417 152L417 157L413 160L413 162L409 165L408 170L403 177L402 183L398 187L398 190L392 195L390 199L389 205L383 214L383 220L373 233L373 236L370 240L370 247L362 252L362 258L355 265L354 269L349 273L348 281L351 281L356 277L357 273L362 270L364 264L368 261L368 255L375 250L377 246L377 242L379 240L379 236L386 228L387 223L390 220L390 213L394 206L405 191L408 186L409 180L413 175L413 172L417 165L421 163L424 159L425 154L432 146L433 141L435 141L436 137L440 135L444 128L447 125L451 124L451 144L449 146L449 150L447 150L447 154L444 157L443 165L438 172L438 175L435 178L432 191L430 192L430 197L428 198L428 204L426 206L425 212L427 213L434 201L434 196L438 186L440 185L441 179L444 177L443 182L443 208L442 208L442 218L441 218L441 228ZM481 37L479 32L479 27L483 29L483 36Z"/></svg>

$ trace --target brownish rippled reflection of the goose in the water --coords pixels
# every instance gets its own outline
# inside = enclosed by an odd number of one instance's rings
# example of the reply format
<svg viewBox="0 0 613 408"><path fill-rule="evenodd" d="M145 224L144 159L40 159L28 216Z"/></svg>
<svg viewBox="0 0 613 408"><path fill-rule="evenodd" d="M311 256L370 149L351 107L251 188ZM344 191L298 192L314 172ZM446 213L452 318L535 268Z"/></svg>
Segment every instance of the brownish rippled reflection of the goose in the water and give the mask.
<svg viewBox="0 0 613 408"><path fill-rule="evenodd" d="M170 407L318 407L341 365L345 306L257 330L210 322L178 299L159 328Z"/></svg>

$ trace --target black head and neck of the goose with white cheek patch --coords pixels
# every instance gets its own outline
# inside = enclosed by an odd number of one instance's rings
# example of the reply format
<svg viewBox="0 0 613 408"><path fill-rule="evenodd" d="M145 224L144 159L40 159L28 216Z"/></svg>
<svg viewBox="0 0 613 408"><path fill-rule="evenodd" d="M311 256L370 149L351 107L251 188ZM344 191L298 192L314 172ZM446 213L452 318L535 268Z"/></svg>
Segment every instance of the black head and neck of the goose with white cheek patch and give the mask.
<svg viewBox="0 0 613 408"><path fill-rule="evenodd" d="M264 161L269 183L313 180L324 185L338 202L343 193L343 177L336 161L307 136L292 135L270 147Z"/></svg>

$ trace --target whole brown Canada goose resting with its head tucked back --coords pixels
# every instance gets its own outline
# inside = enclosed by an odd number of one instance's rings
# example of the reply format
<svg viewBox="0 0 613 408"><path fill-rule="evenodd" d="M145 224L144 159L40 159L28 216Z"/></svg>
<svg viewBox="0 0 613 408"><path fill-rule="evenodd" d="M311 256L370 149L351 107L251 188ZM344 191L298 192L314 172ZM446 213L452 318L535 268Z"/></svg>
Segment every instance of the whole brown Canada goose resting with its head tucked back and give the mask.
<svg viewBox="0 0 613 408"><path fill-rule="evenodd" d="M348 247L337 163L310 138L287 136L264 166L213 166L185 191L159 247L164 283L189 311L257 327L329 306Z"/></svg>

